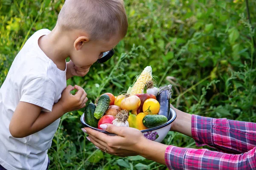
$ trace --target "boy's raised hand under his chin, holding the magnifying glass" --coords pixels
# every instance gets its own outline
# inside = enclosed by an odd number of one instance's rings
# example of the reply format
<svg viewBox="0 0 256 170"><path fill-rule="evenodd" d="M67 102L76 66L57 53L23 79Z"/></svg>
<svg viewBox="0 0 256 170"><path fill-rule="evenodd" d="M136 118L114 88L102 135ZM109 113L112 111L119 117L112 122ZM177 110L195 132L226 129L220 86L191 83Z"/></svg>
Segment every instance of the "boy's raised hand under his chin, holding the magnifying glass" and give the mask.
<svg viewBox="0 0 256 170"><path fill-rule="evenodd" d="M67 62L67 79L73 76L85 76L89 72L90 66L91 65L76 67L76 65L74 65L74 63L70 60L69 62Z"/></svg>

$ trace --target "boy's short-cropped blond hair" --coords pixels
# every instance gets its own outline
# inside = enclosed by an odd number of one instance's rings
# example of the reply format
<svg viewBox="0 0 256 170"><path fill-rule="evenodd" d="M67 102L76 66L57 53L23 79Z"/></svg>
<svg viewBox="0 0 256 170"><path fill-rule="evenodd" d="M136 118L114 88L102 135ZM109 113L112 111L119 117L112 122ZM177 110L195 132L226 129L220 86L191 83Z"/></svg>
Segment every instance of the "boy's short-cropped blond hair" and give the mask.
<svg viewBox="0 0 256 170"><path fill-rule="evenodd" d="M125 37L128 28L123 0L66 0L57 24L66 30L86 31L90 40Z"/></svg>

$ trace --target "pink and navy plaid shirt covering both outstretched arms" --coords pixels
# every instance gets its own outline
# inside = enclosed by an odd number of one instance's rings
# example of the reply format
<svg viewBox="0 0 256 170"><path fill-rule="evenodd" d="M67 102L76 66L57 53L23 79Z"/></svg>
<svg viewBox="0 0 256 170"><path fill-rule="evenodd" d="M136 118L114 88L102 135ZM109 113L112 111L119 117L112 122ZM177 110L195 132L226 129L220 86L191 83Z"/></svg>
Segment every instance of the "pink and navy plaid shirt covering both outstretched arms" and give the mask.
<svg viewBox="0 0 256 170"><path fill-rule="evenodd" d="M256 123L192 115L192 137L218 151L169 146L170 170L256 170Z"/></svg>

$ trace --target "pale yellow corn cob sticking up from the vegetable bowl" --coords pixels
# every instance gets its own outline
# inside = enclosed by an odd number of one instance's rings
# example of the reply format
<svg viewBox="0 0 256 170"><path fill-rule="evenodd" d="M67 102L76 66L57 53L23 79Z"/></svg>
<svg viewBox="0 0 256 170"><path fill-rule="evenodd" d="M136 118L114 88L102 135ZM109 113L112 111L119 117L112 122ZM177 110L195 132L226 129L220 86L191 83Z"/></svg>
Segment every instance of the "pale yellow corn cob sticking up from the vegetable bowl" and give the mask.
<svg viewBox="0 0 256 170"><path fill-rule="evenodd" d="M141 94L143 93L143 89L145 88L145 84L147 81L152 80L152 68L151 66L147 66L144 68L140 76L137 78L133 87L131 88L131 95Z"/></svg>

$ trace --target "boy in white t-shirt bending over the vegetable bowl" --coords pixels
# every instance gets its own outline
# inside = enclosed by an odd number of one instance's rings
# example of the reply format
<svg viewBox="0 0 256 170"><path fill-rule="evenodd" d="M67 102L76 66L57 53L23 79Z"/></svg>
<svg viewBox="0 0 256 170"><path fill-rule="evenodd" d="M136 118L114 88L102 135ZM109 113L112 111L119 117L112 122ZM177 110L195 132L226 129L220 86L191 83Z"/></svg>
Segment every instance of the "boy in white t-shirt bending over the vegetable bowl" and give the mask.
<svg viewBox="0 0 256 170"><path fill-rule="evenodd" d="M48 168L60 117L87 102L84 89L66 87L66 79L87 74L127 27L123 0L66 0L55 28L27 40L0 88L0 170Z"/></svg>

